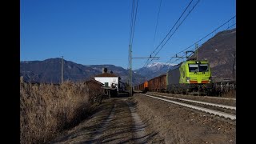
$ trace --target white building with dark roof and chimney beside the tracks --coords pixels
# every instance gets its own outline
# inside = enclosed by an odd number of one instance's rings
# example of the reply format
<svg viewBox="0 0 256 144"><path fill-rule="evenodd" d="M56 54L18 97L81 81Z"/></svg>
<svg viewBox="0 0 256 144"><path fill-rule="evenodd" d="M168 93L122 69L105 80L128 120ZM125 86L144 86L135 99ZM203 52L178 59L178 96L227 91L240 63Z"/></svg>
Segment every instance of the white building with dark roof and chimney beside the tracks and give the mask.
<svg viewBox="0 0 256 144"><path fill-rule="evenodd" d="M115 74L107 73L106 68L102 70L102 74L95 75L94 79L98 82L103 83L105 87L117 88L118 90L119 77Z"/></svg>

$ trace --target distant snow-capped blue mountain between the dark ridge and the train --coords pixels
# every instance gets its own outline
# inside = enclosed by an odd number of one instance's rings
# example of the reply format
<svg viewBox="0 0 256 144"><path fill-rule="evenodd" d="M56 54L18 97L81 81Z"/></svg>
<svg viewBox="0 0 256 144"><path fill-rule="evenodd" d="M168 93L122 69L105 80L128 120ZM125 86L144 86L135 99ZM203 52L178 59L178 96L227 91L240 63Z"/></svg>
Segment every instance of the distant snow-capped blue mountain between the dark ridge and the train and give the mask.
<svg viewBox="0 0 256 144"><path fill-rule="evenodd" d="M175 65L176 64L172 63L153 62L146 67L134 70L134 72L146 77L147 79L151 79L161 74L166 74L167 70L171 69Z"/></svg>

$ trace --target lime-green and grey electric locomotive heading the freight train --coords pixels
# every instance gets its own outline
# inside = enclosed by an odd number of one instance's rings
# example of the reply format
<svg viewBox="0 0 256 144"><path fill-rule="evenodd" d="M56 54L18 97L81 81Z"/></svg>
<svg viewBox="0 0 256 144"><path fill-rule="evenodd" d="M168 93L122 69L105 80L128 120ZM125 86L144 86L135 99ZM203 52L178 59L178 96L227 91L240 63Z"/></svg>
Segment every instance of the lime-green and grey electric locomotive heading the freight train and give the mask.
<svg viewBox="0 0 256 144"><path fill-rule="evenodd" d="M173 94L210 94L211 71L206 60L182 62L166 74L166 92Z"/></svg>

